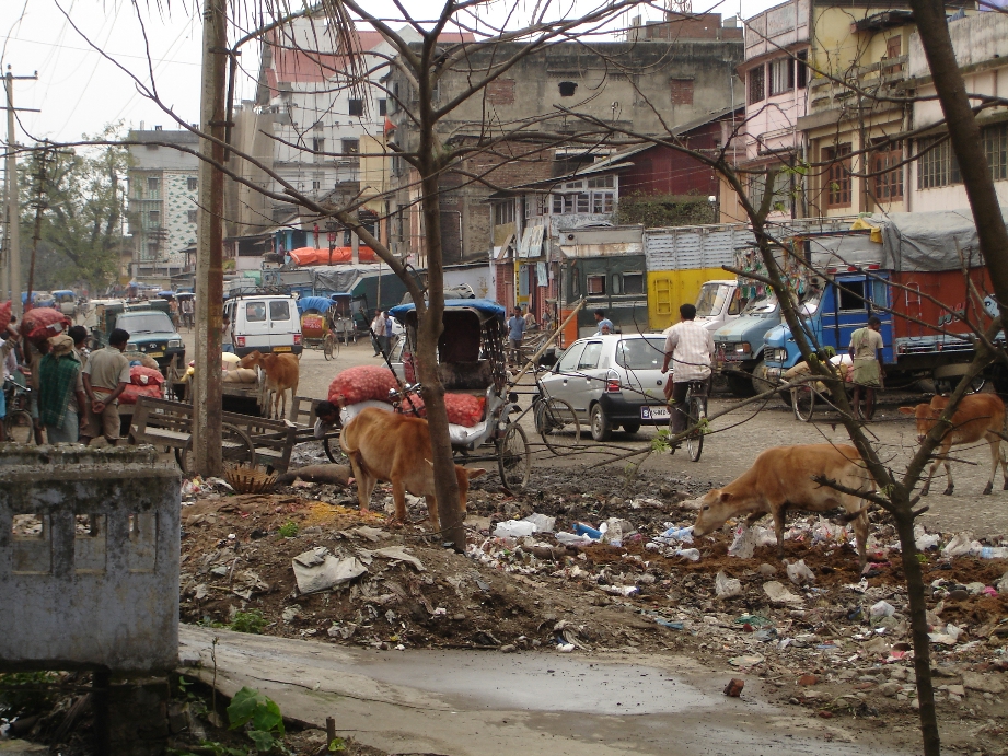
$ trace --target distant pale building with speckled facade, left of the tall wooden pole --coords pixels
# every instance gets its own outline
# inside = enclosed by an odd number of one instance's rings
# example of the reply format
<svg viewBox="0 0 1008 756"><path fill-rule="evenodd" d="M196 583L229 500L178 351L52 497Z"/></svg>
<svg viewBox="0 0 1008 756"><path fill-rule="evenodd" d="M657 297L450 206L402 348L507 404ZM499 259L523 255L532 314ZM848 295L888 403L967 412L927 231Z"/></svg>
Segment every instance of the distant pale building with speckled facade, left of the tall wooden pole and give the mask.
<svg viewBox="0 0 1008 756"><path fill-rule="evenodd" d="M131 274L141 280L166 280L183 270L183 251L196 243L199 159L163 144L198 150L199 138L160 126L148 130L141 123L128 139L141 142L129 148L127 173Z"/></svg>

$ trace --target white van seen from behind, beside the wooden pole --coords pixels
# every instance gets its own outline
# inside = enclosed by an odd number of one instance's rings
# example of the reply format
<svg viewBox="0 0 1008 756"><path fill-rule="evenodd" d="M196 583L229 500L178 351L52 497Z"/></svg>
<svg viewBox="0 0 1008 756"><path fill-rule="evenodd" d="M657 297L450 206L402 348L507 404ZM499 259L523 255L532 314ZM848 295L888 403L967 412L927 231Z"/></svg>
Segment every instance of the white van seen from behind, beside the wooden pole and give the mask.
<svg viewBox="0 0 1008 756"><path fill-rule="evenodd" d="M231 318L231 340L239 357L255 350L301 353L301 317L293 296L240 294L224 302L224 314Z"/></svg>

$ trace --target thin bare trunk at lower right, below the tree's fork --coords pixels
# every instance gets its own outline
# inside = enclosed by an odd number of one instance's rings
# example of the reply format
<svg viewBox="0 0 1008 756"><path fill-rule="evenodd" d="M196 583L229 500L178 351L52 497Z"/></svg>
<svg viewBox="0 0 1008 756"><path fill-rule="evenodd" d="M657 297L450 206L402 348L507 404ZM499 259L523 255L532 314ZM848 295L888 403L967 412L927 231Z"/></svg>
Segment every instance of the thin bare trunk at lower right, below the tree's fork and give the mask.
<svg viewBox="0 0 1008 756"><path fill-rule="evenodd" d="M900 501L902 499L902 501ZM914 672L917 675L917 703L920 706L920 735L924 738L925 756L939 756L941 741L938 736L938 717L935 712L935 686L931 683L930 639L927 636L927 604L925 603L924 575L917 560L914 545L914 516L905 493L893 495L893 503L901 508L893 514L903 560L903 577L909 597L909 626L914 643Z"/></svg>

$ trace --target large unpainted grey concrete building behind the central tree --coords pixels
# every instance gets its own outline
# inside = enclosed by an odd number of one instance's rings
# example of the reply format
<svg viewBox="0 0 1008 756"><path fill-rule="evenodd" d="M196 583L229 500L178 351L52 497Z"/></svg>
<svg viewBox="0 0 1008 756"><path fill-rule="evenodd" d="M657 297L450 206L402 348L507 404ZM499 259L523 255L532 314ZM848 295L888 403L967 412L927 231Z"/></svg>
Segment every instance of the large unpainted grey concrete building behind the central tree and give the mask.
<svg viewBox="0 0 1008 756"><path fill-rule="evenodd" d="M472 45L442 72L435 103L452 102L477 72L485 75L521 49L518 43ZM444 148L465 154L440 181L445 258L485 259L491 245L499 245L495 226L506 223L494 217L498 209L489 197L500 188L560 176L617 151L607 146L609 137L598 136L605 125L614 127L615 141L619 131L669 136L672 125L730 106L740 90L734 69L741 58L741 30L733 21L722 24L715 13L698 19L670 13L659 24L634 26L626 42L561 43L520 58L438 123ZM419 135L409 111L417 94L395 68L387 86L394 142L404 151L416 149ZM595 144L588 143L592 132ZM563 165L554 165L557 160ZM392 245L422 267L417 184L416 172L393 159ZM508 212L506 207L500 205L499 212Z"/></svg>

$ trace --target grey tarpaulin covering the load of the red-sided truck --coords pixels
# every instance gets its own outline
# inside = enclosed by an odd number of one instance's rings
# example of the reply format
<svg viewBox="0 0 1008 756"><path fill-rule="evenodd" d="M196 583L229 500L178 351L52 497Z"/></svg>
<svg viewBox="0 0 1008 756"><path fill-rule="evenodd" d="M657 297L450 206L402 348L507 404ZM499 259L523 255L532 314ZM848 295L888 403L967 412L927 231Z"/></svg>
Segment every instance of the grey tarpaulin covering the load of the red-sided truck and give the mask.
<svg viewBox="0 0 1008 756"><path fill-rule="evenodd" d="M976 225L969 208L890 212L872 216L870 222L882 229L882 268L887 270L959 270L962 267L960 253L968 267L983 265Z"/></svg>

